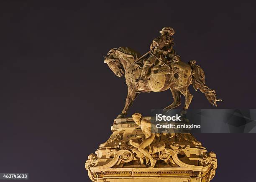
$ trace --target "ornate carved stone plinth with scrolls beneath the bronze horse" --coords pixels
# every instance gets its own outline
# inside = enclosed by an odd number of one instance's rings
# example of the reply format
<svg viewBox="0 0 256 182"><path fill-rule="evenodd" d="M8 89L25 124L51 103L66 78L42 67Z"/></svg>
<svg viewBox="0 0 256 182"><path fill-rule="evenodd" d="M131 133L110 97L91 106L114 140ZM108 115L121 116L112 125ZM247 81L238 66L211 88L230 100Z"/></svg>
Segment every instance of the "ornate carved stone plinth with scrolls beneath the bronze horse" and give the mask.
<svg viewBox="0 0 256 182"><path fill-rule="evenodd" d="M93 182L210 182L215 175L215 153L207 152L190 133L156 134L145 148L156 160L150 167L147 157L130 144L145 139L132 118L115 119L111 129L110 138L85 163Z"/></svg>

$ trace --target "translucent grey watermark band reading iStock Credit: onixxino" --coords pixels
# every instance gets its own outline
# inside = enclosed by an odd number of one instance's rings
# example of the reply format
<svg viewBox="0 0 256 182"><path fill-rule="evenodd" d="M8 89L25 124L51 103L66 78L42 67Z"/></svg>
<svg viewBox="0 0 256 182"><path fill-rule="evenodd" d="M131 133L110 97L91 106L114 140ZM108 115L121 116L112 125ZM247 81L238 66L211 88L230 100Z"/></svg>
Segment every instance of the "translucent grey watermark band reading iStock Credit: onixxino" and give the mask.
<svg viewBox="0 0 256 182"><path fill-rule="evenodd" d="M151 110L155 133L256 133L256 109Z"/></svg>

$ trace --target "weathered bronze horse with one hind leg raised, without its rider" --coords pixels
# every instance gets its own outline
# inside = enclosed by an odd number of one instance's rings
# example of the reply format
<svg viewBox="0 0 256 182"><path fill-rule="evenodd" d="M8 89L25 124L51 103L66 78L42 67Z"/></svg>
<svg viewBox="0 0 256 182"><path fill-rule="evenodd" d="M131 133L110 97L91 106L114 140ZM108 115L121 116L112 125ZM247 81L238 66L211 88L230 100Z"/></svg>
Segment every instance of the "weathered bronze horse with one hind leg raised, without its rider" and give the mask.
<svg viewBox="0 0 256 182"><path fill-rule="evenodd" d="M217 106L215 90L211 90L205 85L205 74L200 66L195 65L195 60L191 60L189 64L179 61L167 61L166 64L156 65L146 75L146 84L139 85L138 78L141 75L143 67L143 59L138 60L139 53L128 48L113 48L105 56L104 62L108 64L110 69L116 76L125 76L128 86L128 95L125 101L125 107L117 118L125 117L129 107L135 98L141 92L161 92L170 89L173 96L173 103L164 108L164 112L173 109L181 104L181 94L185 97L185 105L182 113L185 114L192 100L192 94L189 93L188 86L193 85L195 90L199 89L205 94L210 104ZM138 61L136 61L138 60Z"/></svg>

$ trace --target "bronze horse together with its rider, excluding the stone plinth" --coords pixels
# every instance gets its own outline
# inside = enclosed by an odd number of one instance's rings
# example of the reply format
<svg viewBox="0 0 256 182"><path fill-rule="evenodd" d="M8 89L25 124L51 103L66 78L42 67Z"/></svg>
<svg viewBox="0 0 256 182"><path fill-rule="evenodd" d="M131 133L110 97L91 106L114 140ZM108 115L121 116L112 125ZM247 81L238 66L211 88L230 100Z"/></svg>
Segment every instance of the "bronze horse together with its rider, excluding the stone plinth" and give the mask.
<svg viewBox="0 0 256 182"><path fill-rule="evenodd" d="M141 92L161 92L170 89L174 102L164 108L164 112L179 106L181 94L185 97L185 105L182 113L185 113L192 100L192 94L188 90L193 85L205 94L210 104L217 106L215 90L205 85L205 74L202 68L196 65L195 60L185 63L173 49L172 36L174 29L164 27L161 36L155 38L150 51L142 57L128 47L113 48L105 56L105 63L118 77L125 76L128 86L128 95L125 107L117 118L125 117L129 107Z"/></svg>

